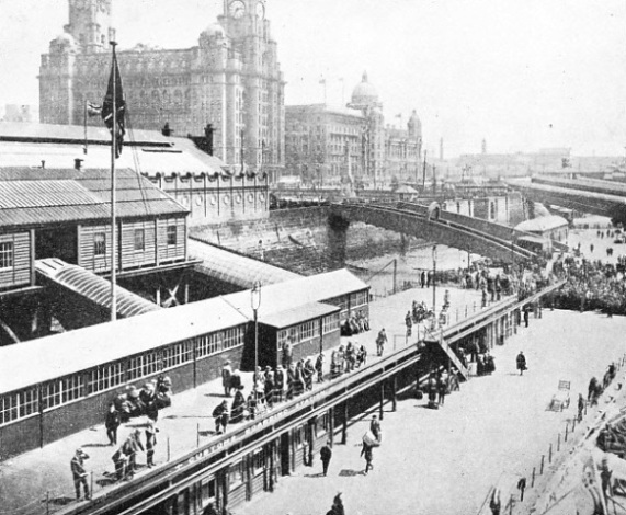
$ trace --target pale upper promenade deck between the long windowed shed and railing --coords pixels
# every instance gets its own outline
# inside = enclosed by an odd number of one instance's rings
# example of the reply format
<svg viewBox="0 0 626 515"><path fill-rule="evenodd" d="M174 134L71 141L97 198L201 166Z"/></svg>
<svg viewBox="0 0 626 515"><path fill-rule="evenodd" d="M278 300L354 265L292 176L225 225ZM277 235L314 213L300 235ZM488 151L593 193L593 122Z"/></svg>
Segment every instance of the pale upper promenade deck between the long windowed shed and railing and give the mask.
<svg viewBox="0 0 626 515"><path fill-rule="evenodd" d="M457 317L465 317L466 308L468 314L480 309L480 294L478 291L449 289L451 323L454 323ZM443 304L444 290L445 287L437 287L437 306L440 307ZM432 289L412 289L378 299L372 305L372 330L352 339L343 337L342 342L357 340L358 344L364 344L367 347L368 359L377 359L375 356L376 333L382 327L385 327L389 339L387 352L391 352L394 346L405 345L405 314L413 300L423 300L430 306ZM327 373L329 371L329 362L330 356L327 356ZM252 384L251 374L243 374L243 384L246 386L244 393L248 394ZM210 413L221 400L220 380L202 385L195 390L175 393L172 408L160 413L158 423L160 432L157 435L158 445L155 455L157 466L168 460L168 453L173 459L196 448L198 443L203 445L215 437L213 434L215 424ZM134 419L128 424L121 426L118 443L124 442L135 428L141 431L141 438L144 439L146 421L145 417ZM46 505L50 512L54 512L75 503L69 462L78 447L82 447L90 455L86 467L88 471L93 472L94 495L111 489L110 474L113 472L111 456L116 448L110 447L106 443L105 430L103 425L99 425L49 444L43 449L36 449L1 462L0 500L2 503L0 515L5 513L11 515L46 513ZM141 467L139 474L147 470L145 462L146 457L141 453L138 457L138 464Z"/></svg>

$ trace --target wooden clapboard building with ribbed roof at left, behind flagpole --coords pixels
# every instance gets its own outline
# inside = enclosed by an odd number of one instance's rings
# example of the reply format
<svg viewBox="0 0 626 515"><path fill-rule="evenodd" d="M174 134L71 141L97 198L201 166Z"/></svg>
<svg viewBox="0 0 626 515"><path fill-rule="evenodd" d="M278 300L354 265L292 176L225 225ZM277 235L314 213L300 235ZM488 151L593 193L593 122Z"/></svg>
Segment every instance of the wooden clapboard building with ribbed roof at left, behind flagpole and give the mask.
<svg viewBox="0 0 626 515"><path fill-rule="evenodd" d="M117 271L186 260L187 209L128 169L116 170ZM34 286L34 261L109 273L110 170L0 169L0 293Z"/></svg>

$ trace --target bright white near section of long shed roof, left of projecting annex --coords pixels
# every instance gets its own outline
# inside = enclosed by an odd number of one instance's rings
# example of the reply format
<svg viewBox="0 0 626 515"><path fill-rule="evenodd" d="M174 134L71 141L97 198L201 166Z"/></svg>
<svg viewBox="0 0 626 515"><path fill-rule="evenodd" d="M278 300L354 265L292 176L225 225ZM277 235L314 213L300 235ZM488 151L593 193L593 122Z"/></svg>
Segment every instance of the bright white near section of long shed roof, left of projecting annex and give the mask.
<svg viewBox="0 0 626 515"><path fill-rule="evenodd" d="M217 297L7 345L0 347L0 393L247 322Z"/></svg>

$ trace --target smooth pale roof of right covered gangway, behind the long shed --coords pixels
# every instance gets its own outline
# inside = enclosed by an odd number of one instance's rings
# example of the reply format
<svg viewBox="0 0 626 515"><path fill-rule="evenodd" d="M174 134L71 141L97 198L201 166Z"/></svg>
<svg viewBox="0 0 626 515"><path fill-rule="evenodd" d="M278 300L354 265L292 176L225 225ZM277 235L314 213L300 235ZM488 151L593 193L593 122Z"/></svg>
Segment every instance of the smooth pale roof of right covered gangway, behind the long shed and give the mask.
<svg viewBox="0 0 626 515"><path fill-rule="evenodd" d="M255 282L269 285L300 277L287 270L238 255L191 238L187 240L187 249L192 259L203 261L202 264L195 266L196 270L209 277L240 288L252 288Z"/></svg>

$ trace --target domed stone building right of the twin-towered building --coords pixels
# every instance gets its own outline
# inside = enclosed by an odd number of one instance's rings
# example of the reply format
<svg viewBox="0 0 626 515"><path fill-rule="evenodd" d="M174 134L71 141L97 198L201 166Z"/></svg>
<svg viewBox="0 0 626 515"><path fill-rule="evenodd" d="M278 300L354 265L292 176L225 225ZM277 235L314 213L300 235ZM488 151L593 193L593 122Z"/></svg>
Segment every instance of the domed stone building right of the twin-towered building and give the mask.
<svg viewBox="0 0 626 515"><path fill-rule="evenodd" d="M422 151L422 124L413 111L406 128L385 124L383 103L367 73L344 108L326 104L288 105L285 169L303 182L383 187L416 182Z"/></svg>

